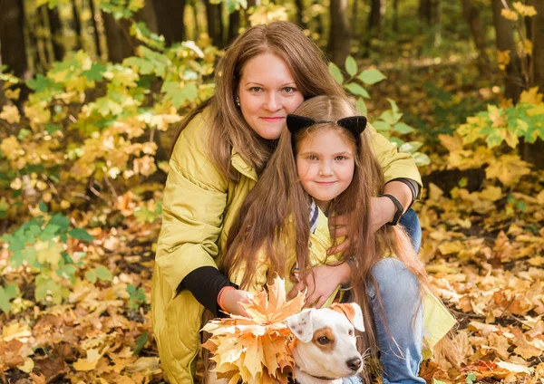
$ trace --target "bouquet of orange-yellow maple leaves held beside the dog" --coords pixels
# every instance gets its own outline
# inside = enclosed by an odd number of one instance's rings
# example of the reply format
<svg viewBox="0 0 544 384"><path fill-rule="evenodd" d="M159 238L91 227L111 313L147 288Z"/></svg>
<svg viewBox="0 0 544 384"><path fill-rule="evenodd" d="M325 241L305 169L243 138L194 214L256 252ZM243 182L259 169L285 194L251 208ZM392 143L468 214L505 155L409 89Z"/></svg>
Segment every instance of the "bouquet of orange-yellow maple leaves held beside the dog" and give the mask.
<svg viewBox="0 0 544 384"><path fill-rule="evenodd" d="M287 317L300 312L305 294L286 301L285 281L276 277L267 284L268 292L254 294L250 304L242 304L249 317L230 314L229 318L208 322L203 331L211 333L202 344L212 353L214 371L228 384L239 380L250 384L287 384L295 361L289 350L292 333Z"/></svg>

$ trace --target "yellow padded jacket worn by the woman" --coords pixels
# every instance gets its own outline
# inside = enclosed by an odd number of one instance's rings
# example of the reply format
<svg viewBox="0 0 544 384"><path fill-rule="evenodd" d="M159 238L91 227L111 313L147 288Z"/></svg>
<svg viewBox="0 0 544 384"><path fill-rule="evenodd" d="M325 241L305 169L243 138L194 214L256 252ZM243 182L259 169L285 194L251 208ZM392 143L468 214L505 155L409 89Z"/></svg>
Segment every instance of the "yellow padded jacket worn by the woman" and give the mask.
<svg viewBox="0 0 544 384"><path fill-rule="evenodd" d="M209 120L205 110L181 132L164 189L151 312L162 368L173 384L193 383L204 311L191 293L176 295L176 288L196 268L217 267L228 228L257 183L255 170L234 149L230 161L240 173L238 183L230 182L214 166L208 156ZM421 185L413 158L398 153L374 128L367 129L371 130L385 180L412 178ZM326 226L319 226L316 236L328 236L321 231L326 231Z"/></svg>

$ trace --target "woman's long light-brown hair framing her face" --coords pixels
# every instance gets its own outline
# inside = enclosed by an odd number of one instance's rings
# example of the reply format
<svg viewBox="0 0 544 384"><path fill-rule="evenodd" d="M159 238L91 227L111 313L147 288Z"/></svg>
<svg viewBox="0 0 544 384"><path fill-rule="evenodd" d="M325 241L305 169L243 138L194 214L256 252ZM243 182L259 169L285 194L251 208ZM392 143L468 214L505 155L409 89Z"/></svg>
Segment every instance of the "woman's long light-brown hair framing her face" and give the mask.
<svg viewBox="0 0 544 384"><path fill-rule="evenodd" d="M176 136L177 139L196 115L209 108L212 116L209 157L234 182L238 180L238 173L230 166L233 148L257 172L265 168L274 149L274 145L259 137L248 126L235 102L244 67L249 60L264 53L273 53L286 63L305 99L325 94L345 95L345 91L328 72L324 54L296 24L274 22L256 25L239 35L218 63L214 96L181 121Z"/></svg>

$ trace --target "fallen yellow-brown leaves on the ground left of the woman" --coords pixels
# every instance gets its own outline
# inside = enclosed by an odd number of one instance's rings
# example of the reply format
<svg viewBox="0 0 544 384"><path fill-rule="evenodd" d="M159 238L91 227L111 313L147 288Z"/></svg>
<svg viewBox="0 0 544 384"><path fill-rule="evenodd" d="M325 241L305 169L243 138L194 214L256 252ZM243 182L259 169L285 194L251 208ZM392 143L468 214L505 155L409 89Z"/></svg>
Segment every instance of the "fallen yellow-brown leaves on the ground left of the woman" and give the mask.
<svg viewBox="0 0 544 384"><path fill-rule="evenodd" d="M111 281L78 279L62 305L27 301L30 305L22 305L9 318L3 314L2 382L147 384L164 380L151 331L152 241L147 240L150 234L156 238L160 221L142 226L130 216L124 225L90 231L95 238L91 257L111 269ZM2 254L0 263L5 263ZM5 274L23 292L32 288L30 276ZM129 285L144 294L139 308L131 306Z"/></svg>

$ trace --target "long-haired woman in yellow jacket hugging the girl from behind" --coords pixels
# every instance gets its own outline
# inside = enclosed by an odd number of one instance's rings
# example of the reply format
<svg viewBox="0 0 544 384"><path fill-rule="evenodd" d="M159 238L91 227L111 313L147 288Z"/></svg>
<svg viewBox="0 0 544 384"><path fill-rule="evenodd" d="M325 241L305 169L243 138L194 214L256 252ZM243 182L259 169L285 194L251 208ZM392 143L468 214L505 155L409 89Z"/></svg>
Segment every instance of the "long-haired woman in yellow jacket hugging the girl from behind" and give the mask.
<svg viewBox="0 0 544 384"><path fill-rule="evenodd" d="M217 315L219 292L235 286L217 270L228 229L266 167L287 114L316 95L345 98L316 44L294 24L258 25L231 44L216 71L215 95L184 120L164 190L151 302L153 330L170 382L193 382L202 313L206 308ZM395 197L400 206L410 206L421 185L413 158L399 154L387 139L369 129L384 169L384 193ZM397 220L403 210L388 197L374 197L372 206L374 230ZM338 226L335 235L346 234L345 224L342 217L333 223ZM331 252L342 246L347 245ZM408 285L417 290L411 275L406 275L404 286L398 280L392 284L398 278L396 272L392 270L391 275L384 269L376 278L380 287L393 285L394 293ZM327 284L311 294L328 297L345 271L349 271L346 264L316 267L316 280L326 275ZM247 300L247 293L240 290L228 290L222 297L225 305L232 304L229 310L238 313L243 313L238 302ZM421 335L407 339L414 344L422 340ZM406 375L417 375L415 365L410 370Z"/></svg>

